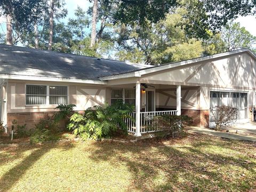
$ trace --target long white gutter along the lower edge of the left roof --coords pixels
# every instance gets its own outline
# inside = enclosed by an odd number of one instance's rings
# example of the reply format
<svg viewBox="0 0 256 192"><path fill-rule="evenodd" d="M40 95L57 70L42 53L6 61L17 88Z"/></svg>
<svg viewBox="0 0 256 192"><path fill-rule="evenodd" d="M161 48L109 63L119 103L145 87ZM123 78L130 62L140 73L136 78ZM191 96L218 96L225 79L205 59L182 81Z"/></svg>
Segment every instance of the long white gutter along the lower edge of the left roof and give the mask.
<svg viewBox="0 0 256 192"><path fill-rule="evenodd" d="M103 82L103 81L71 79L71 78L61 78L61 77L43 77L43 76L38 77L38 76L26 76L26 75L1 74L0 78L17 79L17 80L29 80L29 81L54 81L54 82L70 82L70 83L86 83L86 84L107 85L107 82Z"/></svg>

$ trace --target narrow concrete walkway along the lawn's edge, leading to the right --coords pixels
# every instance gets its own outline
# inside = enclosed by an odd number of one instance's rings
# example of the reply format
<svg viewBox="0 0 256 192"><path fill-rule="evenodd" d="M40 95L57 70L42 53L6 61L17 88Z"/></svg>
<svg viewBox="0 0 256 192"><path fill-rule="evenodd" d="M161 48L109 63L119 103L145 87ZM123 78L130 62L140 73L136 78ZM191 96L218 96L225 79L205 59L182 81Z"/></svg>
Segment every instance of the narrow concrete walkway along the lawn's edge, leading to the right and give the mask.
<svg viewBox="0 0 256 192"><path fill-rule="evenodd" d="M187 129L189 133L202 133L202 134L209 134L216 137L227 138L227 139L236 139L236 140L243 140L243 141L256 141L256 137L246 136L246 135L239 135L235 133L228 133L228 132L220 132L210 129L204 129L200 127L189 127Z"/></svg>

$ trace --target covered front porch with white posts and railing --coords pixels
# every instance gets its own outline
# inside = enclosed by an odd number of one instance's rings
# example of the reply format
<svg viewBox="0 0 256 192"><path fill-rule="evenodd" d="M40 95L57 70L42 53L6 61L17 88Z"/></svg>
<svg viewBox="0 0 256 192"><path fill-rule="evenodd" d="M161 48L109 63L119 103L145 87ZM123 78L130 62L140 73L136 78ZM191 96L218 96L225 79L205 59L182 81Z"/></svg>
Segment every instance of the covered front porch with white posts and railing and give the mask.
<svg viewBox="0 0 256 192"><path fill-rule="evenodd" d="M135 105L132 119L126 118L127 130L136 137L143 133L161 131L153 123L155 116L192 115L199 110L199 86L140 83L111 86L111 103L122 99ZM122 98L121 98L122 97ZM198 114L198 113L197 113ZM199 117L198 117L199 118Z"/></svg>

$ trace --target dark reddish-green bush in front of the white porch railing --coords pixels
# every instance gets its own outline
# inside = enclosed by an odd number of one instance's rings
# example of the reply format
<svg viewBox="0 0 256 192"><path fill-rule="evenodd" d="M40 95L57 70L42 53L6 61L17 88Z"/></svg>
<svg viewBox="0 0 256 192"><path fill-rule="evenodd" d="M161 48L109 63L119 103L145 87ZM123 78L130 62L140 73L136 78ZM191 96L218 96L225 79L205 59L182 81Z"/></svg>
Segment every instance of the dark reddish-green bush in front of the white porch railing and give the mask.
<svg viewBox="0 0 256 192"><path fill-rule="evenodd" d="M159 134L165 137L168 134L180 133L184 127L190 126L193 118L187 115L162 115L153 118L152 126L162 130Z"/></svg>

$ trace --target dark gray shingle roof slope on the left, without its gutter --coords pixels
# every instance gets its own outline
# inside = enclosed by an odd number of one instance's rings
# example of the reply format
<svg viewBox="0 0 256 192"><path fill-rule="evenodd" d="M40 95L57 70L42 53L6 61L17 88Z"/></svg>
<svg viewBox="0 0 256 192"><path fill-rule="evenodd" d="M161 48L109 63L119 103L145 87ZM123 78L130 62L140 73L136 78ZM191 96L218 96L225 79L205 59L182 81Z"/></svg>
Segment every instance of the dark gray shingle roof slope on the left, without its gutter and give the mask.
<svg viewBox="0 0 256 192"><path fill-rule="evenodd" d="M99 80L149 66L82 55L0 45L0 74Z"/></svg>

